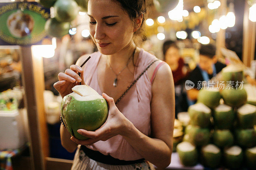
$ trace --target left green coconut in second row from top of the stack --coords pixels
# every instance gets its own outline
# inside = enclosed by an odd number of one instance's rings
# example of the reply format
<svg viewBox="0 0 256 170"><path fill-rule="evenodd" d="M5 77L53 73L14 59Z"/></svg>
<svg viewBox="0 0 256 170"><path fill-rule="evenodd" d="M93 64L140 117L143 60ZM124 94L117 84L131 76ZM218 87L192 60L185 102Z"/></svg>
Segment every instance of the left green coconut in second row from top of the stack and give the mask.
<svg viewBox="0 0 256 170"><path fill-rule="evenodd" d="M220 98L219 89L201 89L198 92L197 102L204 103L207 107L214 109L220 104Z"/></svg>

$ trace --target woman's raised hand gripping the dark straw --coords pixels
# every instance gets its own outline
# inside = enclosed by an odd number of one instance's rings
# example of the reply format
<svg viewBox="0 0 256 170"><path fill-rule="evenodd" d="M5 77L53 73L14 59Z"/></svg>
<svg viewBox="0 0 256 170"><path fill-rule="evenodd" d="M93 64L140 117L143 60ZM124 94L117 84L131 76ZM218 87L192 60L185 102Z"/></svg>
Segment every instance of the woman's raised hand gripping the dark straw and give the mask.
<svg viewBox="0 0 256 170"><path fill-rule="evenodd" d="M85 85L84 80L77 74L81 73L81 77L84 77L84 71L78 65L71 65L70 69L65 70L65 73L60 72L58 74L59 81L54 83L53 87L60 93L61 97L72 93L72 88L75 85Z"/></svg>

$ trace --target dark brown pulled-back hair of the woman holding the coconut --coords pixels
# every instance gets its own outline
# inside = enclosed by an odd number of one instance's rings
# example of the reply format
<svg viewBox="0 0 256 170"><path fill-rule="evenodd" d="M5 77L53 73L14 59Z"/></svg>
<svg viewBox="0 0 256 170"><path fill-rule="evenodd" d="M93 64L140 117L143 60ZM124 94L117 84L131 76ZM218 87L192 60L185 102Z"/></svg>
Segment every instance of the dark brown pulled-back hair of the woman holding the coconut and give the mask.
<svg viewBox="0 0 256 170"><path fill-rule="evenodd" d="M136 26L136 18L142 17L142 23L140 28L134 33L134 42L137 46L146 39L144 21L146 18L146 0L112 0L119 2L123 10L129 15L132 20L133 27Z"/></svg>

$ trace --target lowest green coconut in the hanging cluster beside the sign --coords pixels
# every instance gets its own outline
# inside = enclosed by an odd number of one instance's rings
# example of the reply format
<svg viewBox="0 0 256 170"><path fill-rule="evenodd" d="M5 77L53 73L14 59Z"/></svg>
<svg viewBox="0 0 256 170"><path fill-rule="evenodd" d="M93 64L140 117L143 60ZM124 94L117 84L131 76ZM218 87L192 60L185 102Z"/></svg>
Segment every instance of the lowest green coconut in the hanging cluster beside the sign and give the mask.
<svg viewBox="0 0 256 170"><path fill-rule="evenodd" d="M44 25L44 30L48 35L53 37L63 37L68 34L70 22L59 22L56 18L50 18Z"/></svg>

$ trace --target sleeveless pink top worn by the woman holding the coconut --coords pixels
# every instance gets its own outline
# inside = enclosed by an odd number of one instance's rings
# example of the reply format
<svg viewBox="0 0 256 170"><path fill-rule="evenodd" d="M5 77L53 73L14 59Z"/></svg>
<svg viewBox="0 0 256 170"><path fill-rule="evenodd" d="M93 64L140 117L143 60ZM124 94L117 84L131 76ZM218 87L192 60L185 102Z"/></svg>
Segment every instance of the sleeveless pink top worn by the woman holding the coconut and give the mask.
<svg viewBox="0 0 256 170"><path fill-rule="evenodd" d="M99 51L90 55L92 58L85 64L84 73L92 74L84 74L84 82L102 95L97 78L97 65L100 60L100 55L101 53ZM134 79L156 59L156 56L141 49L135 64L138 67L135 67ZM146 71L116 105L119 111L123 113L140 132L147 136L150 136L151 133L150 102L152 97L151 82L153 79L151 79L151 81L150 79ZM112 137L107 141L98 141L86 147L121 160L143 158L121 135Z"/></svg>

